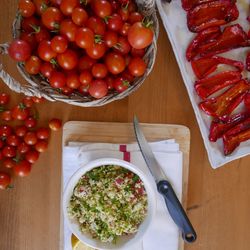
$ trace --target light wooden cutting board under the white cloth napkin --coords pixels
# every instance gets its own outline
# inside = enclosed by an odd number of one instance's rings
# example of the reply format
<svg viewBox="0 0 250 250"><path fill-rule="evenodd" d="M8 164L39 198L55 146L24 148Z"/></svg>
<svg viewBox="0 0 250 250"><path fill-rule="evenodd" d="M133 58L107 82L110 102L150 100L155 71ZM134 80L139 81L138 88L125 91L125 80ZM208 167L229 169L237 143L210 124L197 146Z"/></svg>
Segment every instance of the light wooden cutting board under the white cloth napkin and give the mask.
<svg viewBox="0 0 250 250"><path fill-rule="evenodd" d="M182 204L186 208L189 171L190 131L182 125L141 123L149 142L174 138L183 153ZM68 142L132 143L136 141L132 123L69 121L63 127L63 146ZM61 237L63 226L61 225ZM61 238L63 242L63 238ZM179 250L184 249L180 239Z"/></svg>

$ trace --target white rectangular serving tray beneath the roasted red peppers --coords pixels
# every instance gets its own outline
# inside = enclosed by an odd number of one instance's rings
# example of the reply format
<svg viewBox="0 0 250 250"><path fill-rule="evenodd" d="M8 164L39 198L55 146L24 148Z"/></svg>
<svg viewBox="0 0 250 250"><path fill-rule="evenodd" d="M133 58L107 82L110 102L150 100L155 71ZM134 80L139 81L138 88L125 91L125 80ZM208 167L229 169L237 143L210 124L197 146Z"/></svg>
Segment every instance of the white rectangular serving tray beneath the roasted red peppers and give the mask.
<svg viewBox="0 0 250 250"><path fill-rule="evenodd" d="M190 63L185 57L186 48L196 34L191 33L187 28L186 12L181 7L181 0L172 0L171 3L167 3L164 0L156 0L156 4L171 42L184 84L187 88L212 168L218 168L232 160L250 154L250 141L241 143L230 156L224 156L221 139L217 140L217 142L209 141L208 135L211 117L207 116L198 107L201 99L196 94L193 87L196 77L192 71ZM250 28L249 23L246 21L249 0L238 0L237 7L240 16L235 22L230 23L230 25L233 23L239 23L247 32ZM248 50L250 51L250 48L234 49L230 52L224 53L223 56L244 62ZM221 67L220 70L222 69L223 68ZM250 78L249 72L243 72L243 77Z"/></svg>

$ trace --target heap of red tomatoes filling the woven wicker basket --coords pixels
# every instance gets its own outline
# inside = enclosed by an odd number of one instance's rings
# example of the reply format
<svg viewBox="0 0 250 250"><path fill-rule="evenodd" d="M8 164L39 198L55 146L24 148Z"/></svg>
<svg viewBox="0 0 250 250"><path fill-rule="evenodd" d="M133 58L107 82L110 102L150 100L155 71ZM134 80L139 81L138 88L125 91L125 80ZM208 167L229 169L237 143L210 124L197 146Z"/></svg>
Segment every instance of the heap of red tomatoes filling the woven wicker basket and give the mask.
<svg viewBox="0 0 250 250"><path fill-rule="evenodd" d="M102 98L144 75L154 32L133 0L19 0L18 8L9 55L60 93Z"/></svg>

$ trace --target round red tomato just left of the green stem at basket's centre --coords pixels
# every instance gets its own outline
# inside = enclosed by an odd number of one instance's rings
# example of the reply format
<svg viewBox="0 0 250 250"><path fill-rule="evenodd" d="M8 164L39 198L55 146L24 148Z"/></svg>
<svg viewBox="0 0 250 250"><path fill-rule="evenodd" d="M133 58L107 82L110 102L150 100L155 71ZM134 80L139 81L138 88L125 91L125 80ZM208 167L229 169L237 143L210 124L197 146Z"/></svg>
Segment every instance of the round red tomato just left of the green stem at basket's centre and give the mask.
<svg viewBox="0 0 250 250"><path fill-rule="evenodd" d="M75 42L80 48L90 48L94 44L94 32L89 28L79 28L76 32Z"/></svg>

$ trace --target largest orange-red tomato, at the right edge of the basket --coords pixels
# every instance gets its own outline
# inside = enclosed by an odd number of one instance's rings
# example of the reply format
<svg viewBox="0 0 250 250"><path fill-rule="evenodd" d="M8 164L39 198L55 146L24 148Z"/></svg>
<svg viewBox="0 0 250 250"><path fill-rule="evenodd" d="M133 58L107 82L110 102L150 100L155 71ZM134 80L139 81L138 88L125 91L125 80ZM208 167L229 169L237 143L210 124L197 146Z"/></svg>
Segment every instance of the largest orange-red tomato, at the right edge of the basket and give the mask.
<svg viewBox="0 0 250 250"><path fill-rule="evenodd" d="M141 22L134 23L128 31L128 41L135 49L144 49L149 46L154 37L151 28L145 27Z"/></svg>

